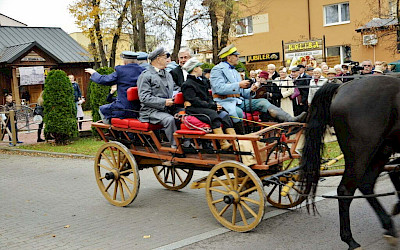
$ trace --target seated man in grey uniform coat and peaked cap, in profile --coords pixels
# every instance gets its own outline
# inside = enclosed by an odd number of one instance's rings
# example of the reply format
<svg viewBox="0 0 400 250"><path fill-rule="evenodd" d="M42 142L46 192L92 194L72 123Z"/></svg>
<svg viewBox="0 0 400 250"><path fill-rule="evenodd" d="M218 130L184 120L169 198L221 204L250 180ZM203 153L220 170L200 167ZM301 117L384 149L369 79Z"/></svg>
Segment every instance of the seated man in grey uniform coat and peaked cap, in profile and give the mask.
<svg viewBox="0 0 400 250"><path fill-rule="evenodd" d="M171 74L165 71L167 57L169 57L169 53L162 47L157 48L148 56L150 66L138 79L141 105L139 120L151 124L161 124L171 147L176 148L173 135L177 127L174 116L168 113L174 105L175 84Z"/></svg>

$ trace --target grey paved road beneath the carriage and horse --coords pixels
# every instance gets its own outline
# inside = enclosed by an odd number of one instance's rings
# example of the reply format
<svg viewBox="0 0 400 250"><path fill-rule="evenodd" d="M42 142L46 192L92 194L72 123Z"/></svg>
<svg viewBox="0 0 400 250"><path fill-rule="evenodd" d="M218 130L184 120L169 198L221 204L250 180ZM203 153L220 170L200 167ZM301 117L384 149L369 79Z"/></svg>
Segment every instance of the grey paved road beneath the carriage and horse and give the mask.
<svg viewBox="0 0 400 250"><path fill-rule="evenodd" d="M345 249L336 201L318 203L321 217L268 207L266 217L275 217L250 233L235 233L212 217L204 190L165 190L151 170L140 177L138 197L120 208L101 195L92 160L0 154L0 248ZM328 187L321 191L334 190L336 183L337 178L323 182ZM366 202L353 206L353 232L365 249L389 249Z"/></svg>

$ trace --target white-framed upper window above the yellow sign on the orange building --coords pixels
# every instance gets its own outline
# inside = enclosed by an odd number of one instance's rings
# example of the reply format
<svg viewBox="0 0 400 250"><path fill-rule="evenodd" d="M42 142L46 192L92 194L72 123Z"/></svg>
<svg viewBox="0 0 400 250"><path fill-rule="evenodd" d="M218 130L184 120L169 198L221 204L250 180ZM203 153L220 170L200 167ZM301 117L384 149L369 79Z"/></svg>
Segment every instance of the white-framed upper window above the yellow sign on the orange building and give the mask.
<svg viewBox="0 0 400 250"><path fill-rule="evenodd" d="M349 3L338 3L324 6L325 25L336 25L350 22Z"/></svg>

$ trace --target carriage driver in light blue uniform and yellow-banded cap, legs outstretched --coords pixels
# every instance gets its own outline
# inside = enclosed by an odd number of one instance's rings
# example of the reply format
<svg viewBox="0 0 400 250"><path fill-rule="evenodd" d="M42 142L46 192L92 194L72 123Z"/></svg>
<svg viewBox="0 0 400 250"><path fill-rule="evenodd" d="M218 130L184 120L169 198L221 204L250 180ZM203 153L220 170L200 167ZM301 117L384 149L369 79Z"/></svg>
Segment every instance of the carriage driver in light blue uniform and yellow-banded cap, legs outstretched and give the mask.
<svg viewBox="0 0 400 250"><path fill-rule="evenodd" d="M269 114L283 122L302 121L306 113L293 117L290 114L272 105L267 99L259 98L248 100L255 96L257 85L250 86L250 81L241 80L235 66L239 63L239 53L233 44L223 48L218 54L222 62L211 70L211 89L214 101L219 103L233 118L237 133L243 131L240 118L243 110L269 112ZM251 106L250 106L251 105Z"/></svg>

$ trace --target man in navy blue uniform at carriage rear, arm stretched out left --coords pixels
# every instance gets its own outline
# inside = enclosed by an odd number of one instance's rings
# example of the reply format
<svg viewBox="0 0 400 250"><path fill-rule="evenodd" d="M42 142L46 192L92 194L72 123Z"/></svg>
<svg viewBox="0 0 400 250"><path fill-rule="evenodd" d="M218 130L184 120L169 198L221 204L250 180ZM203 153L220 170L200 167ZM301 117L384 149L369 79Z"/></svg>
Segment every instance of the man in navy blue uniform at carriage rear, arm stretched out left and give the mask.
<svg viewBox="0 0 400 250"><path fill-rule="evenodd" d="M137 64L137 53L124 51L121 54L124 60L124 65L116 66L115 72L109 75L100 75L94 69L85 69L85 72L91 74L90 80L95 83L112 86L117 84L117 99L110 103L100 106L99 113L104 123L110 124L111 118L128 118L136 117L133 111L122 109L135 110L132 102L128 101L126 92L128 88L135 87L139 75L144 71L144 68ZM136 109L137 110L137 109Z"/></svg>

